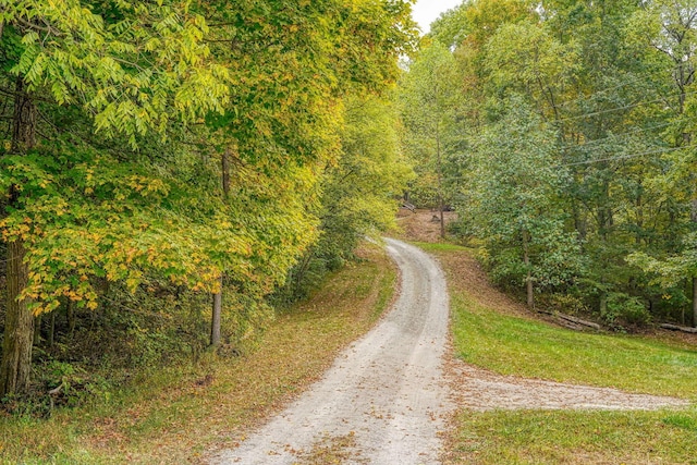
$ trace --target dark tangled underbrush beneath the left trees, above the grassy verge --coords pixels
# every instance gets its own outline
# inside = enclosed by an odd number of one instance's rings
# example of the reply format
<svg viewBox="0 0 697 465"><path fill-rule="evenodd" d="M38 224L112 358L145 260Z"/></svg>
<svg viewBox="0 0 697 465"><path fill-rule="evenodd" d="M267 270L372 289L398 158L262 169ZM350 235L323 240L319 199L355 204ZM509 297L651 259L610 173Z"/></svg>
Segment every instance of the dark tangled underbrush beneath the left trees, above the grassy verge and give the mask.
<svg viewBox="0 0 697 465"><path fill-rule="evenodd" d="M109 401L160 369L196 365L209 342L210 301L209 294L176 286L142 286L129 293L112 284L95 310L69 303L40 316L35 321L29 392L5 397L1 407L11 415L46 418L58 407ZM220 355L252 347L272 319L262 301L228 285Z"/></svg>

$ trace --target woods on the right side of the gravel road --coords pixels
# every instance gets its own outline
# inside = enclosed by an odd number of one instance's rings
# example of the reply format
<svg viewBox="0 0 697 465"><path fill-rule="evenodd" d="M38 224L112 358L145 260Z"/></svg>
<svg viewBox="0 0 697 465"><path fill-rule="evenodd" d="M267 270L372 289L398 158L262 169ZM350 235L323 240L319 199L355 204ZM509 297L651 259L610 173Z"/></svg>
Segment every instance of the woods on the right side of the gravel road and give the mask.
<svg viewBox="0 0 697 465"><path fill-rule="evenodd" d="M463 2L400 85L416 204L529 307L697 323L697 4Z"/></svg>

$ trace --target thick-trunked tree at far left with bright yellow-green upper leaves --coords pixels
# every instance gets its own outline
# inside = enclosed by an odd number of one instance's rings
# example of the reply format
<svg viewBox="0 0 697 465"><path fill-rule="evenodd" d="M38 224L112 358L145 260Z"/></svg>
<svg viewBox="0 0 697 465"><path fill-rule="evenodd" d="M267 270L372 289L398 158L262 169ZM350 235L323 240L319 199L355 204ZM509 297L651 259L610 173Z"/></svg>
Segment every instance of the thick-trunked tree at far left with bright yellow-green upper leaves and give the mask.
<svg viewBox="0 0 697 465"><path fill-rule="evenodd" d="M74 0L1 4L0 39L8 46L3 64L14 76L15 110L0 180L8 193L0 227L10 264L0 397L28 387L33 314L56 308L63 295L95 305L91 270L75 270L73 260L54 259L56 268L41 273L50 255L41 246L71 231L65 221L56 221L68 203L60 182L49 173L61 170L60 164L78 167L85 160L62 150L60 143L50 147L49 140L37 140L37 98L90 113L97 130L108 136L123 134L132 146L138 136L162 132L172 117L191 121L221 110L227 98L227 71L208 60L200 16L175 4L122 2L113 8L107 15ZM145 192L142 198L164 188L137 174L129 181L123 191ZM89 197L96 186L85 187L91 189L83 192ZM88 215L81 220L89 219ZM119 261L118 267L124 260ZM80 278L63 284L58 281L63 272ZM137 279L133 272L131 279Z"/></svg>

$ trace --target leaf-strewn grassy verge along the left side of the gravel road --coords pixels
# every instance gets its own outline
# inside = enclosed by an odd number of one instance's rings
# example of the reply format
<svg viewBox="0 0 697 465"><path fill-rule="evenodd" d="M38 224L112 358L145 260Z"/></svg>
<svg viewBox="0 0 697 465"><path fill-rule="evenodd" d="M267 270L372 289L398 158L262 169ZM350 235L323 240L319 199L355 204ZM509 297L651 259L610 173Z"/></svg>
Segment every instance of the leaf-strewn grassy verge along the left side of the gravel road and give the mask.
<svg viewBox="0 0 697 465"><path fill-rule="evenodd" d="M3 463L196 462L232 446L248 429L317 380L337 353L389 305L396 270L378 246L280 316L254 351L196 365L133 374L109 399L57 409L49 419L0 417Z"/></svg>

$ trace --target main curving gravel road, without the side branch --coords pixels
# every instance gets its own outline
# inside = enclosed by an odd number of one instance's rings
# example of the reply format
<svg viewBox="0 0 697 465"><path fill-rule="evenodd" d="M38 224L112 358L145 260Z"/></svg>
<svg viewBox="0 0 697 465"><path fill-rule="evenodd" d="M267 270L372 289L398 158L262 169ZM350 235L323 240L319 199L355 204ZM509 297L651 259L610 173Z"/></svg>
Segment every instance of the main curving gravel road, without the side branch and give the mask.
<svg viewBox="0 0 697 465"><path fill-rule="evenodd" d="M401 271L389 314L320 381L212 464L291 465L313 462L322 448L340 452L344 464L439 463L449 402L445 281L420 249L395 240L387 240L387 249Z"/></svg>

